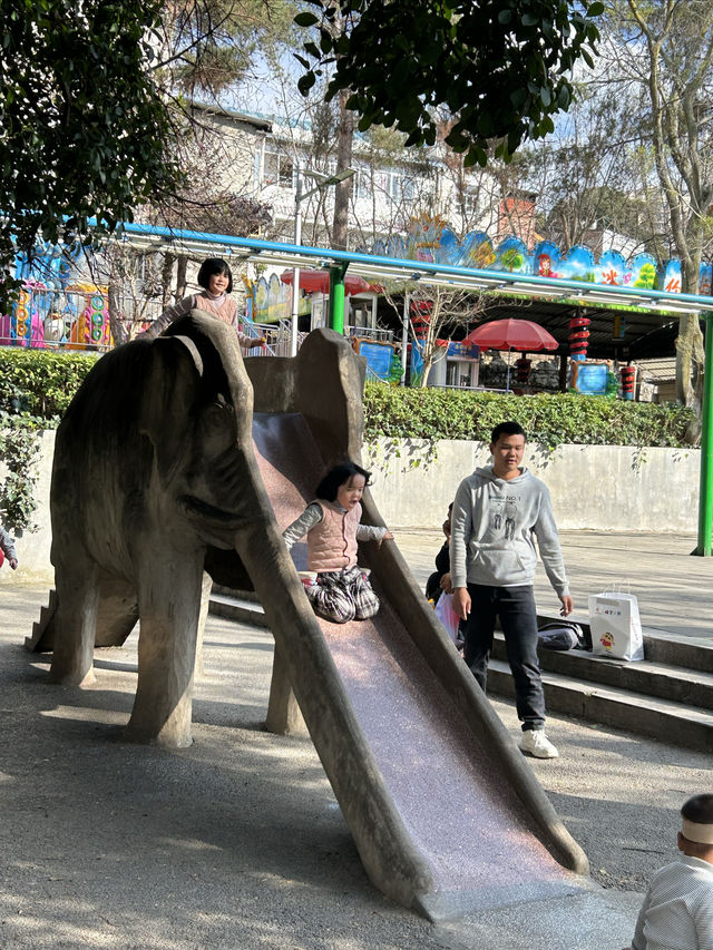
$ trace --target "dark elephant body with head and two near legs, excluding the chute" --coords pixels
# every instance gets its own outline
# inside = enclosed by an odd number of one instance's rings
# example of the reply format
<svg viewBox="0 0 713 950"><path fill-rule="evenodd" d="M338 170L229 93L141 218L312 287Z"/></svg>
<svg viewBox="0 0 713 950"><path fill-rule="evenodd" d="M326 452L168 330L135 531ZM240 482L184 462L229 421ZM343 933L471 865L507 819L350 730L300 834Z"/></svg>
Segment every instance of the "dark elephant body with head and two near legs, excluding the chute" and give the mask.
<svg viewBox="0 0 713 950"><path fill-rule="evenodd" d="M58 429L50 678L90 682L95 644L121 643L138 618L136 738L191 743L204 569L250 589L283 555L252 399L234 331L194 311L102 356Z"/></svg>

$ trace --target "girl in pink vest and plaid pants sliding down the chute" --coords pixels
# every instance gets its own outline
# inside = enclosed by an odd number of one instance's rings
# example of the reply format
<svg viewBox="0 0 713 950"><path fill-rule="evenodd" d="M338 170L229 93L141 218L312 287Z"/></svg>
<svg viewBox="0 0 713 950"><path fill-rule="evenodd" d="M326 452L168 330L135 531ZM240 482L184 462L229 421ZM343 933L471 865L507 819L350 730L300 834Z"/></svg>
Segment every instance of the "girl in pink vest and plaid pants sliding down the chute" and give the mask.
<svg viewBox="0 0 713 950"><path fill-rule="evenodd" d="M354 462L335 466L316 488L316 500L283 531L287 549L307 536L304 590L314 613L334 624L365 620L379 610L368 571L356 564L356 542L390 540L387 528L360 525L370 473Z"/></svg>

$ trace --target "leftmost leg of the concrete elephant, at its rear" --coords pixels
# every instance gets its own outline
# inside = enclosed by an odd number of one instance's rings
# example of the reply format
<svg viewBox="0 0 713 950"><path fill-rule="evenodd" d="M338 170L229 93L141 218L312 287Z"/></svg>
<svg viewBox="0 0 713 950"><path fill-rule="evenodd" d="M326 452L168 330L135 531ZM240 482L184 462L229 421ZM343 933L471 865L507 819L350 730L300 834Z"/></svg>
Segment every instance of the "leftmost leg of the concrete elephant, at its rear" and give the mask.
<svg viewBox="0 0 713 950"><path fill-rule="evenodd" d="M55 560L57 613L51 683L88 686L94 682L94 645L99 604L99 570L77 543Z"/></svg>

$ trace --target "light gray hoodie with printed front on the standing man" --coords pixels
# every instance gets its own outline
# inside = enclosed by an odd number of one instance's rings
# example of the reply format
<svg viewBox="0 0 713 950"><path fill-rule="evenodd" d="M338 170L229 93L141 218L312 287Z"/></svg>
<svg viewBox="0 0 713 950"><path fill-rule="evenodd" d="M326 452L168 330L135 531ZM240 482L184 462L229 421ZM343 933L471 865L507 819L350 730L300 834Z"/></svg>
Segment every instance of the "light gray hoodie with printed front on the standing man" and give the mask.
<svg viewBox="0 0 713 950"><path fill-rule="evenodd" d="M525 468L505 481L486 466L463 479L451 520L450 576L453 587L531 584L539 548L558 597L569 594L547 486Z"/></svg>

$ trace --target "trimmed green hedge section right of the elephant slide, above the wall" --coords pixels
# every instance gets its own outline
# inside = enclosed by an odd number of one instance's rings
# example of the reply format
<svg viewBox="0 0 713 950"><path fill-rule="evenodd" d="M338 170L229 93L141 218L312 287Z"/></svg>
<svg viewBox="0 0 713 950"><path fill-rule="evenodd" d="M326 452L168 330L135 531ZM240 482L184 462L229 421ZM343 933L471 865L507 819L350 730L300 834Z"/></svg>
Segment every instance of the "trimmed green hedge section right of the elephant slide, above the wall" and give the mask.
<svg viewBox="0 0 713 950"><path fill-rule="evenodd" d="M514 420L534 442L550 449L585 445L685 445L695 417L675 403L627 402L574 393L519 396L368 383L364 439L465 439L490 441L498 422Z"/></svg>

